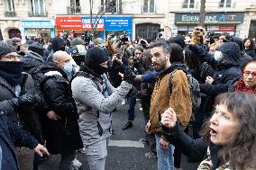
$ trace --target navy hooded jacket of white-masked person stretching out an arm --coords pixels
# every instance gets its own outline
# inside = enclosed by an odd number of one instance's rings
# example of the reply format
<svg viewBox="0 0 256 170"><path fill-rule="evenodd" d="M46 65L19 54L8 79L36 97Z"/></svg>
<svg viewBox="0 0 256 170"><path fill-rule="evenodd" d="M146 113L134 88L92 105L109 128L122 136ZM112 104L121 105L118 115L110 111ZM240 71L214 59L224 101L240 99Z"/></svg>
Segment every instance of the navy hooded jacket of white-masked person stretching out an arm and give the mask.
<svg viewBox="0 0 256 170"><path fill-rule="evenodd" d="M233 79L242 75L240 66L240 49L235 42L226 42L217 50L224 54L223 61L217 63L215 58L209 55L205 49L198 46L189 47L193 52L204 58L206 62L215 66L213 74L214 82L212 85L200 84L200 91L203 94L215 96L228 91L228 87L232 85Z"/></svg>

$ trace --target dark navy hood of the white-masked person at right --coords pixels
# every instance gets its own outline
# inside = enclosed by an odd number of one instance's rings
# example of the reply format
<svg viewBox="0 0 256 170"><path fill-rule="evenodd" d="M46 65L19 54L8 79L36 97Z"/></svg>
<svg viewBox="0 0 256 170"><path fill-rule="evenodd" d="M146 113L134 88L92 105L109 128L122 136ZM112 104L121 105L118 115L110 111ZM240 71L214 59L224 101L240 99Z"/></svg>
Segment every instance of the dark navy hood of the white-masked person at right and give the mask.
<svg viewBox="0 0 256 170"><path fill-rule="evenodd" d="M235 42L225 42L217 50L224 54L224 62L217 67L238 67L240 65L241 50Z"/></svg>

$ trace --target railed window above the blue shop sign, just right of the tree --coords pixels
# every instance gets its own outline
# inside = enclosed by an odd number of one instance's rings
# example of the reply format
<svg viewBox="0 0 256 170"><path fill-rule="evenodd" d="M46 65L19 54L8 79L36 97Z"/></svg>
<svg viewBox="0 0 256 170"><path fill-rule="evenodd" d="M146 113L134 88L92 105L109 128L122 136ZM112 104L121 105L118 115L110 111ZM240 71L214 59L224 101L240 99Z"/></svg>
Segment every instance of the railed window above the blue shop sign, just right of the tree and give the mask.
<svg viewBox="0 0 256 170"><path fill-rule="evenodd" d="M121 0L101 0L101 10L105 10L106 13L119 13L121 10ZM120 9L118 9L118 7Z"/></svg>

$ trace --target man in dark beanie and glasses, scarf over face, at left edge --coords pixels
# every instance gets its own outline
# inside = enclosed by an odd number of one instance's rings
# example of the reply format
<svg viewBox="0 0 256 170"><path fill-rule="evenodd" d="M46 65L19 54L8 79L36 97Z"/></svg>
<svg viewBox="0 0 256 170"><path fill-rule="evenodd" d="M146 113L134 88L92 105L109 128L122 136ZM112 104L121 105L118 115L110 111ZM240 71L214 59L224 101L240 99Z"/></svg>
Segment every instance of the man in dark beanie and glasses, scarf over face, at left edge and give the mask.
<svg viewBox="0 0 256 170"><path fill-rule="evenodd" d="M41 121L37 112L42 109L42 99L36 93L32 76L23 73L23 62L14 47L0 43L0 108L18 126L22 126L23 130L29 131L35 139L43 142ZM37 140L35 141L38 142ZM2 147L1 139L0 144ZM30 148L16 148L17 162L21 170L33 169L34 156ZM12 159L11 154L14 153L4 153L4 157ZM9 169L8 167L6 168Z"/></svg>

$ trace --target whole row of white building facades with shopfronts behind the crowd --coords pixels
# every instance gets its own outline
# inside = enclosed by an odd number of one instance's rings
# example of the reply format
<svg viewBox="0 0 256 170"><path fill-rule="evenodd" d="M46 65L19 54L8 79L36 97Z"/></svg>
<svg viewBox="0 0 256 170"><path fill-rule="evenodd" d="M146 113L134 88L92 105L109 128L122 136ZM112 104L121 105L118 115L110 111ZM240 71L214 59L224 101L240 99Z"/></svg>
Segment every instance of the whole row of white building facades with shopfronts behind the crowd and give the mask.
<svg viewBox="0 0 256 170"><path fill-rule="evenodd" d="M93 22L96 33L119 36L123 30L154 40L161 31L169 38L197 26L200 0L0 0L0 40L36 36L50 39L60 31L86 35ZM90 8L92 6L92 8ZM92 9L92 10L90 10ZM99 19L98 15L103 15ZM206 30L256 37L255 0L206 0Z"/></svg>

